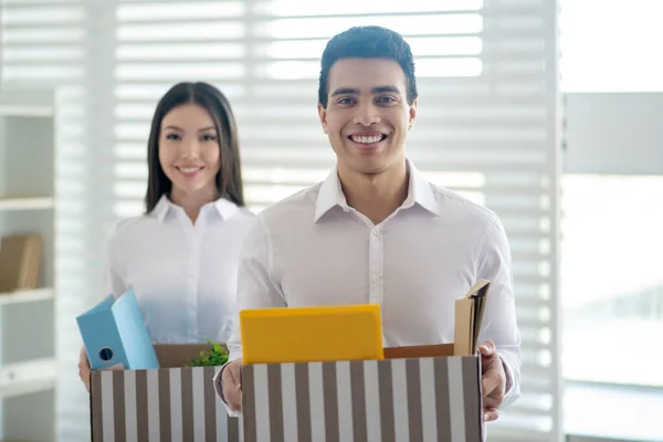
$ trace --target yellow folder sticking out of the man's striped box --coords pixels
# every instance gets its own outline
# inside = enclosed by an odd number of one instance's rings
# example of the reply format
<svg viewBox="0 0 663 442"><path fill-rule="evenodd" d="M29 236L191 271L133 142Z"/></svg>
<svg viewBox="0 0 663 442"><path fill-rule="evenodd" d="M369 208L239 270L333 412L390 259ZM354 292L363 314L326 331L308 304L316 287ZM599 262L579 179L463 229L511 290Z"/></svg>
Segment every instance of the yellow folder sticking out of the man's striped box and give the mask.
<svg viewBox="0 0 663 442"><path fill-rule="evenodd" d="M243 364L383 359L377 304L240 312Z"/></svg>

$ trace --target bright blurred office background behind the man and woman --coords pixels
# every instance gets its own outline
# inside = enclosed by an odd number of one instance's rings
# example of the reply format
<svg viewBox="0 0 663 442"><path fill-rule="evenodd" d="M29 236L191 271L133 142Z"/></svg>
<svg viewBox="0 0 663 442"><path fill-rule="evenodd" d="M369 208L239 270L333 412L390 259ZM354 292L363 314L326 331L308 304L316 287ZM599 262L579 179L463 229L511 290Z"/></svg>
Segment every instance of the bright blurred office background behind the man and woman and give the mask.
<svg viewBox="0 0 663 442"><path fill-rule="evenodd" d="M660 0L0 4L0 233L48 224L52 264L44 290L0 302L4 438L90 440L75 316L104 296L109 228L144 210L166 90L229 96L259 212L334 164L316 113L326 40L381 24L415 55L410 158L511 240L523 396L488 440L663 441Z"/></svg>

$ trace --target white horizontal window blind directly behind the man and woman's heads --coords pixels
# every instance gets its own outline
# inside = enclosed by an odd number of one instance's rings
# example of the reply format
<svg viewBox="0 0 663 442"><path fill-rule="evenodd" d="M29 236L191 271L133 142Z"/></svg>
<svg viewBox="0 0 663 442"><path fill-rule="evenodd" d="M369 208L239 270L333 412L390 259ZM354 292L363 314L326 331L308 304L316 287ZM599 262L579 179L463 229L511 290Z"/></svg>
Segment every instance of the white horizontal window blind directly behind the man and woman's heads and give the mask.
<svg viewBox="0 0 663 442"><path fill-rule="evenodd" d="M143 209L149 118L172 83L204 80L229 95L245 196L260 211L334 164L316 113L326 41L355 24L402 33L420 88L409 156L432 181L495 210L511 239L523 397L491 436L560 440L555 1L125 0L117 20L116 217Z"/></svg>

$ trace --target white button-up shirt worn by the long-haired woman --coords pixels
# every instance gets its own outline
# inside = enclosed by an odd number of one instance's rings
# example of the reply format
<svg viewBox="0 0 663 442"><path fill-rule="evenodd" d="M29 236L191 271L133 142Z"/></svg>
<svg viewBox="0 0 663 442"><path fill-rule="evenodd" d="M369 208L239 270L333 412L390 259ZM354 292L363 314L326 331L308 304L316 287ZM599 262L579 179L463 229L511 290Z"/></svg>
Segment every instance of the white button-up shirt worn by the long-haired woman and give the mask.
<svg viewBox="0 0 663 442"><path fill-rule="evenodd" d="M253 222L248 209L219 199L193 224L162 197L152 212L112 231L107 293L133 287L155 343L225 343L236 317L240 251Z"/></svg>

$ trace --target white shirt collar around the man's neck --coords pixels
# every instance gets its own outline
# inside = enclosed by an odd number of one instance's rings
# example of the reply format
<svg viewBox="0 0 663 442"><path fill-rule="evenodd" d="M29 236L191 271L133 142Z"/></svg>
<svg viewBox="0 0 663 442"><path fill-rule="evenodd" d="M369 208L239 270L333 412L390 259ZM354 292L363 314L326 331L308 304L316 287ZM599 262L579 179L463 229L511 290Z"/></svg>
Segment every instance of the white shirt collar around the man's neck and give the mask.
<svg viewBox="0 0 663 442"><path fill-rule="evenodd" d="M410 173L410 182L408 185L408 197L403 201L401 208L409 209L415 203L432 212L440 215L440 207L431 185L428 182L423 173L421 173L410 161L406 158L406 166ZM349 211L350 207L347 203L343 189L340 187L340 180L338 179L338 169L336 166L327 176L327 179L323 181L320 190L315 202L315 218L314 222L317 222L325 213L327 213L335 206L340 207L344 211Z"/></svg>

